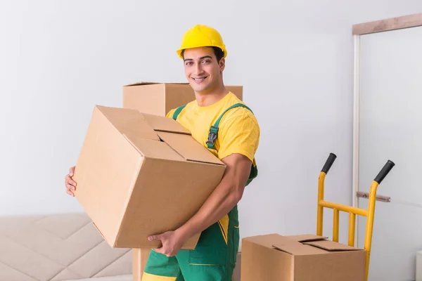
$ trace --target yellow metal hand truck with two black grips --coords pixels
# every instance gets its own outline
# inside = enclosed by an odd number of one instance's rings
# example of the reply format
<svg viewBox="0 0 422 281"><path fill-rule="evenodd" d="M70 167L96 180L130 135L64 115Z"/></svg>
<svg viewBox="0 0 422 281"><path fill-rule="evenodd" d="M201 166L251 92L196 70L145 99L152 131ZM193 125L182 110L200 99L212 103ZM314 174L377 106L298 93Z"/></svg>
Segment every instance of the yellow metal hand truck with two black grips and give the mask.
<svg viewBox="0 0 422 281"><path fill-rule="evenodd" d="M366 251L365 259L365 280L368 280L369 273L369 257L371 256L371 242L372 242L372 229L373 229L373 214L375 211L375 201L376 201L376 189L378 185L381 184L385 176L390 173L391 169L395 164L388 160L387 163L383 166L383 169L378 173L376 178L371 184L371 189L369 191L369 207L368 209L360 209L356 207L350 207L347 205L336 204L332 202L327 202L324 200L324 181L326 174L331 169L337 156L333 153L330 153L324 167L322 168L319 174L318 181L318 210L316 217L316 235L322 236L322 222L324 217L324 207L333 209L333 241L338 242L338 224L339 224L339 212L345 211L349 213L349 246L354 247L354 226L356 215L366 216L366 231L365 231L365 242L364 249Z"/></svg>

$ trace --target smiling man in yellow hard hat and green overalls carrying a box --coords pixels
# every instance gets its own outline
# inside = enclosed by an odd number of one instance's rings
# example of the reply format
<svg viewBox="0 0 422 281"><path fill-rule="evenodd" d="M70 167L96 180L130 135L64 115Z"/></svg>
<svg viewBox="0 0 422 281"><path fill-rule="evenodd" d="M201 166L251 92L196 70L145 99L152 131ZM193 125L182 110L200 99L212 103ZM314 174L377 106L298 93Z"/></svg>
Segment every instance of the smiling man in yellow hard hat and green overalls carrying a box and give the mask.
<svg viewBox="0 0 422 281"><path fill-rule="evenodd" d="M244 103L224 87L222 73L227 51L217 30L204 25L192 27L184 34L177 53L184 61L186 79L196 100L170 110L167 117L191 131L196 141L226 164L226 171L184 226L167 233L151 233L148 239L160 240L162 247L151 250L142 280L229 281L239 243L237 204L245 186L256 176L260 126L248 107L229 109ZM216 122L218 126L212 127ZM72 171L73 168L65 183L70 195L75 190ZM180 250L196 233L201 233L196 249Z"/></svg>

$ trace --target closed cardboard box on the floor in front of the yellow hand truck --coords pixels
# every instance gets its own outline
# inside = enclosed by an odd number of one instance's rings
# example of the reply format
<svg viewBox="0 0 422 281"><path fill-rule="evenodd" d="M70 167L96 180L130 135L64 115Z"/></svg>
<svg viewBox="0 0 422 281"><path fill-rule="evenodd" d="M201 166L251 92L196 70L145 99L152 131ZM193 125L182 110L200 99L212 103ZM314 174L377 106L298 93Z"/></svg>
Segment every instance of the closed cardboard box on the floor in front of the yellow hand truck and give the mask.
<svg viewBox="0 0 422 281"><path fill-rule="evenodd" d="M242 281L364 281L365 251L317 235L242 240Z"/></svg>

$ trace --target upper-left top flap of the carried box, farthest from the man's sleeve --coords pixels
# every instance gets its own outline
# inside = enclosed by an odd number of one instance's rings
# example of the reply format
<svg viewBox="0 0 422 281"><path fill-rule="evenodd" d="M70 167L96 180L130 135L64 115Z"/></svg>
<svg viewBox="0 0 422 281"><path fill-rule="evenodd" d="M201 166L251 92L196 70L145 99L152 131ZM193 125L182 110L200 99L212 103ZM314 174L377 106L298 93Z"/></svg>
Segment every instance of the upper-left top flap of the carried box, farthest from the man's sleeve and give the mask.
<svg viewBox="0 0 422 281"><path fill-rule="evenodd" d="M94 110L100 110L108 121L122 134L136 135L138 138L149 138L154 141L160 141L153 127L138 110L102 105L96 105Z"/></svg>

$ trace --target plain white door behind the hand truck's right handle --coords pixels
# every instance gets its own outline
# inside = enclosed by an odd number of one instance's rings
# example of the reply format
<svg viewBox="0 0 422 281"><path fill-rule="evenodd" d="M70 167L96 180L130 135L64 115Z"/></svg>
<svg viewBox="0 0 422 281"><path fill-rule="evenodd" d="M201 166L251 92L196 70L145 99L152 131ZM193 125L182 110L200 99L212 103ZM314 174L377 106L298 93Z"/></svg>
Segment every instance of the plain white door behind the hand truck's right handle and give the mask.
<svg viewBox="0 0 422 281"><path fill-rule="evenodd" d="M359 191L390 159L395 167L378 187L370 281L415 280L422 250L422 27L361 36ZM359 198L367 209L368 200ZM366 218L358 220L364 247Z"/></svg>

